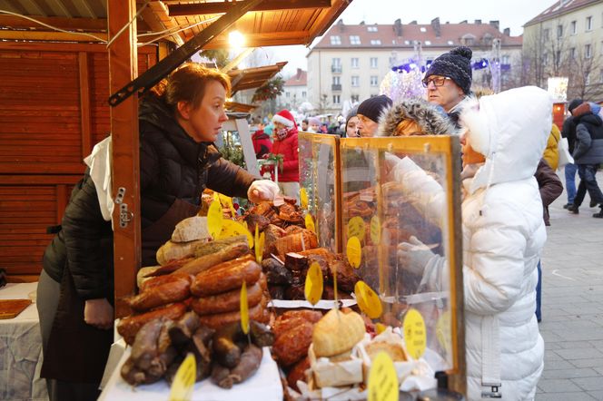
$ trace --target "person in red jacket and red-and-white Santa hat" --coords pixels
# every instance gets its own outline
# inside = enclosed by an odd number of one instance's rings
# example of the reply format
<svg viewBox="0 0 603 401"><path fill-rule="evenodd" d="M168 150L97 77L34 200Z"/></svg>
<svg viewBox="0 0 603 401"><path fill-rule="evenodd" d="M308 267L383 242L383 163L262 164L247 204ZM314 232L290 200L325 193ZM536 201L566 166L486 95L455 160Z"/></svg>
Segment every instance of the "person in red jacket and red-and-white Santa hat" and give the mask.
<svg viewBox="0 0 603 401"><path fill-rule="evenodd" d="M272 122L274 123L272 153L282 154L282 164L279 166L279 187L283 195L299 201L300 166L295 118L291 112L282 110L274 114Z"/></svg>

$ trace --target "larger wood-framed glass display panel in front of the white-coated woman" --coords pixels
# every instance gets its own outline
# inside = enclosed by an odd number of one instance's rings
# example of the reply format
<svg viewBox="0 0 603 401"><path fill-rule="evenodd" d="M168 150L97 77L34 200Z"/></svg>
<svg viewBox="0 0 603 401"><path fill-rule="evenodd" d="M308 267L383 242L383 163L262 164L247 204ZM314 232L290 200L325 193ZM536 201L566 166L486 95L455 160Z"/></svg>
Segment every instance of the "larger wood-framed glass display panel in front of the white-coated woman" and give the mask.
<svg viewBox="0 0 603 401"><path fill-rule="evenodd" d="M340 153L341 242L360 240L379 321L401 328L419 311L430 366L464 380L458 138L349 138Z"/></svg>

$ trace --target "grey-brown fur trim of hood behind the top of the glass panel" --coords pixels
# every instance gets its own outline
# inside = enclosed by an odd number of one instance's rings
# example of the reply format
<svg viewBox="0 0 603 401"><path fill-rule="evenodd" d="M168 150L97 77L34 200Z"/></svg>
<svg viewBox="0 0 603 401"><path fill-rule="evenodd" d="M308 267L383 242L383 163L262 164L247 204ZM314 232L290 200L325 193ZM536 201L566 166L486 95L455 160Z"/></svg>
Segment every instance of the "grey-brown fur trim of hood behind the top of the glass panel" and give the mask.
<svg viewBox="0 0 603 401"><path fill-rule="evenodd" d="M394 103L381 114L377 136L394 136L402 120L417 122L428 135L450 135L456 132L454 124L440 106L422 100L405 100Z"/></svg>

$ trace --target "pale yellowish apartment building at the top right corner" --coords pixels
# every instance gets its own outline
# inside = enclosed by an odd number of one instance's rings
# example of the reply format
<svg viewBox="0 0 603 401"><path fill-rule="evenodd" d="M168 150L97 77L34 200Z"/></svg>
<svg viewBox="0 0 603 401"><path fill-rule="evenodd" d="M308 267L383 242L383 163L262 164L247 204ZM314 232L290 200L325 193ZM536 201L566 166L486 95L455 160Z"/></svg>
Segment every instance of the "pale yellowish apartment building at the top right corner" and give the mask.
<svg viewBox="0 0 603 401"><path fill-rule="evenodd" d="M603 1L560 0L524 25L524 82L568 77L568 98L603 100Z"/></svg>

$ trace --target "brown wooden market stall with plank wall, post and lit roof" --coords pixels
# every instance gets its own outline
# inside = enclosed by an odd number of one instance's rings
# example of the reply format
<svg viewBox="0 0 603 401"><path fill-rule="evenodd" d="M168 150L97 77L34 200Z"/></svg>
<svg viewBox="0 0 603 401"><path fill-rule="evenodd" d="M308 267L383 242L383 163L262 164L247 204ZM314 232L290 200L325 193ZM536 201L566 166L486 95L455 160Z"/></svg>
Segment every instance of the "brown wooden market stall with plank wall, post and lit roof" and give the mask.
<svg viewBox="0 0 603 401"><path fill-rule="evenodd" d="M138 136L133 135L137 98L130 95L147 90L202 48L227 46L231 28L245 35L249 47L309 45L349 3L2 2L0 76L9 89L0 95L5 122L0 129L0 238L5 240L0 254L9 278L36 279L51 239L46 227L60 223L71 187L84 171L82 159L111 132L114 199L120 193L114 212L115 269L120 271L115 296L133 293L140 267L140 205ZM125 313L119 303L116 310L118 316Z"/></svg>

